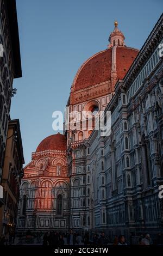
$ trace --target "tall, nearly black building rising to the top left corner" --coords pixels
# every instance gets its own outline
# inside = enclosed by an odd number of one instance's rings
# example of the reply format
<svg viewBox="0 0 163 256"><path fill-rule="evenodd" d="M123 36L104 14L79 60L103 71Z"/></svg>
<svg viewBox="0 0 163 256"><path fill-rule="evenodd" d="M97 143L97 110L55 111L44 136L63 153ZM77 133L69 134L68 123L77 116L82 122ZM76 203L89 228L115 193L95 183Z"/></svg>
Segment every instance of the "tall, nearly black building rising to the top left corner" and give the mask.
<svg viewBox="0 0 163 256"><path fill-rule="evenodd" d="M21 77L16 1L0 1L0 182L2 178L14 78ZM1 184L1 183L0 183ZM1 187L2 188L2 187ZM3 201L0 198L0 203Z"/></svg>

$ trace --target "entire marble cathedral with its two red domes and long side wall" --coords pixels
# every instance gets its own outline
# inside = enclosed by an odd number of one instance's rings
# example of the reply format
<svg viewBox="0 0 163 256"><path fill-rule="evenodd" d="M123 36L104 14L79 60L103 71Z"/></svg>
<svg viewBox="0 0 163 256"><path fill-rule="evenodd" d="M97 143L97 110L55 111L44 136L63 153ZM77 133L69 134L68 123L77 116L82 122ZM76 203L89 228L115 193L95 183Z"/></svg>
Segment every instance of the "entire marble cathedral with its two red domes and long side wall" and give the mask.
<svg viewBox="0 0 163 256"><path fill-rule="evenodd" d="M24 168L18 230L161 230L162 16L140 51L114 25L106 50L74 77L67 107L77 129L43 139ZM83 111L110 111L110 135L78 129Z"/></svg>

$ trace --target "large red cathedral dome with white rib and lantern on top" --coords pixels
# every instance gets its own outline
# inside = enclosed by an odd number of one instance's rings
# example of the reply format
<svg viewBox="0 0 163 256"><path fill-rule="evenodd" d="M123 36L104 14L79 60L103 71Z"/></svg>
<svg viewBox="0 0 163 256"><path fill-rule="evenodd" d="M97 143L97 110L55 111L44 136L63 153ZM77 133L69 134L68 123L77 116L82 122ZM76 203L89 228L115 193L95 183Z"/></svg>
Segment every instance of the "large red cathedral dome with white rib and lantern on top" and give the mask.
<svg viewBox="0 0 163 256"><path fill-rule="evenodd" d="M117 25L115 21L108 48L94 54L79 68L72 84L73 92L104 82L111 81L115 85L126 75L139 50L125 45L124 35Z"/></svg>

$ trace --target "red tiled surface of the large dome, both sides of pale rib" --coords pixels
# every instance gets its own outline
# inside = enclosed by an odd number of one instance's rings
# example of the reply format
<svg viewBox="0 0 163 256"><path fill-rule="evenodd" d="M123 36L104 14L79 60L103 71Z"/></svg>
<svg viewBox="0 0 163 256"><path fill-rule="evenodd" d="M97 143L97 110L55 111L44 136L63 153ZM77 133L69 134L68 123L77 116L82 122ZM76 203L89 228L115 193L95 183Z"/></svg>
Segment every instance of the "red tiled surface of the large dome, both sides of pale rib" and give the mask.
<svg viewBox="0 0 163 256"><path fill-rule="evenodd" d="M117 80L122 79L139 51L124 46L116 48L116 70ZM78 70L73 81L74 90L84 89L98 83L110 80L111 74L112 48L98 52L86 62Z"/></svg>

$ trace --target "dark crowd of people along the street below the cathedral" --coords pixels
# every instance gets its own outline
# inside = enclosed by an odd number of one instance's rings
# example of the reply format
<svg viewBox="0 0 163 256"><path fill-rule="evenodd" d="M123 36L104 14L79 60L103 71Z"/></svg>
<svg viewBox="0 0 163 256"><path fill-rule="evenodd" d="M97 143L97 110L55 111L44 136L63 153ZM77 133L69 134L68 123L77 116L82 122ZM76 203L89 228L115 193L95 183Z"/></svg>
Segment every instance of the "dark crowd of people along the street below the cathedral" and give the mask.
<svg viewBox="0 0 163 256"><path fill-rule="evenodd" d="M61 233L61 232L37 232L32 234L30 230L26 233L19 233L18 243L17 245L21 245L24 243L35 243L43 246L64 246L64 245L93 245L93 246L108 246L108 245L133 245L132 237L127 240L124 235L117 236L115 235L114 242L112 243L108 236L102 233L94 233L89 234L86 232L83 236L80 233L76 233L76 231L70 230L69 233ZM149 234L140 234L137 238L137 245L153 245L153 240ZM9 232L5 236L0 238L0 245L12 245L15 241L15 232ZM134 242L135 244L135 242ZM163 245L162 235L158 237L156 242L158 245Z"/></svg>

